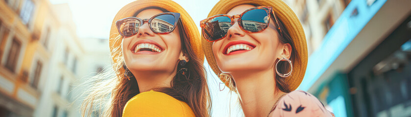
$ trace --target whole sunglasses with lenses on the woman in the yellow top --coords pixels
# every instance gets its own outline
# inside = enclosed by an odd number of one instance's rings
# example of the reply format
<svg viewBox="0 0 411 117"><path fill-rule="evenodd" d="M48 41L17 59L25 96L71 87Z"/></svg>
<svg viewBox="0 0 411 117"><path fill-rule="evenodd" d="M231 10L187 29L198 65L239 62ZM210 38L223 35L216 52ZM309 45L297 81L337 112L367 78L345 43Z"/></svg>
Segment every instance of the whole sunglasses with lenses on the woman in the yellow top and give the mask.
<svg viewBox="0 0 411 117"><path fill-rule="evenodd" d="M119 29L119 33L123 37L130 37L134 36L139 32L140 26L144 24L144 22L148 22L148 26L150 27L151 31L157 34L168 34L172 32L175 28L175 24L180 19L180 13L160 13L157 14L150 19L141 20L136 17L128 17L121 20L116 21L117 29Z"/></svg>

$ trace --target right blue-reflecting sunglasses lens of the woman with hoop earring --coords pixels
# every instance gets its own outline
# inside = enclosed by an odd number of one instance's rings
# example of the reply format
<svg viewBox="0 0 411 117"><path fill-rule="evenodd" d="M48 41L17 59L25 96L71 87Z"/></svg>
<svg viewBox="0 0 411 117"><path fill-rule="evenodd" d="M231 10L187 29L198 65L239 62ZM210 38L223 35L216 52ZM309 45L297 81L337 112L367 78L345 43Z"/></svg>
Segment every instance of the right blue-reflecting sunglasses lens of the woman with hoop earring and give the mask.
<svg viewBox="0 0 411 117"><path fill-rule="evenodd" d="M269 21L266 10L254 9L242 15L241 25L245 30L257 32L266 29Z"/></svg>

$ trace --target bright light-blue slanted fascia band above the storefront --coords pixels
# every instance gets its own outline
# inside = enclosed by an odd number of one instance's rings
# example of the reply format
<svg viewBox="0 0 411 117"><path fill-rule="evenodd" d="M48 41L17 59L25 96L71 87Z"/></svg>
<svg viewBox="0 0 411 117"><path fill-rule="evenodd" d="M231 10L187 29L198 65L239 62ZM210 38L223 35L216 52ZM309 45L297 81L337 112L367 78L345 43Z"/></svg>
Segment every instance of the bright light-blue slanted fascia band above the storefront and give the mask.
<svg viewBox="0 0 411 117"><path fill-rule="evenodd" d="M303 83L298 89L309 90L333 62L338 62L335 59L386 1L376 0L368 6L366 0L352 0L324 36L322 44L310 55Z"/></svg>

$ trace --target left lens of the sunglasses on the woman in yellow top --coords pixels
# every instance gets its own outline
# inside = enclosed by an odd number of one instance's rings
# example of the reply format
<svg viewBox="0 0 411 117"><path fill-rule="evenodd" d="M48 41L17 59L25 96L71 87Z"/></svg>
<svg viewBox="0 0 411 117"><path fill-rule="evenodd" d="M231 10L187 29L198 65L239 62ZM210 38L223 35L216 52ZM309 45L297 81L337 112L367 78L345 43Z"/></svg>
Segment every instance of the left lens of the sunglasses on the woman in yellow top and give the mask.
<svg viewBox="0 0 411 117"><path fill-rule="evenodd" d="M139 31L140 20L127 19L120 23L120 33L124 37L135 35Z"/></svg>

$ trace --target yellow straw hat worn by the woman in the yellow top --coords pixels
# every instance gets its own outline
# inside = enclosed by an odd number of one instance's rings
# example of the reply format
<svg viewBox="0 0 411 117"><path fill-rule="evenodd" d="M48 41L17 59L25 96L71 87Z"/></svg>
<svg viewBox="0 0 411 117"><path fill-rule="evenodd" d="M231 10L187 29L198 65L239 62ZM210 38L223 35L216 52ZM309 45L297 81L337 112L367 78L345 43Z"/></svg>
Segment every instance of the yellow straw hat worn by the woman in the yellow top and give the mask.
<svg viewBox="0 0 411 117"><path fill-rule="evenodd" d="M110 53L114 63L119 63L122 61L120 59L122 52L121 49L118 48L119 46L121 46L122 37L119 38L120 34L116 27L116 21L127 17L134 17L133 15L137 11L140 11L147 7L160 7L169 12L180 13L180 19L183 23L185 29L184 31L190 40L191 47L200 62L204 62L204 53L201 48L199 31L193 19L186 12L186 10L183 9L183 7L171 0L136 0L122 7L114 17L114 20L111 24L109 44Z"/></svg>

